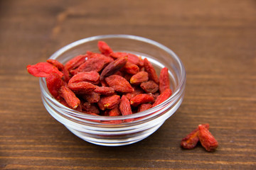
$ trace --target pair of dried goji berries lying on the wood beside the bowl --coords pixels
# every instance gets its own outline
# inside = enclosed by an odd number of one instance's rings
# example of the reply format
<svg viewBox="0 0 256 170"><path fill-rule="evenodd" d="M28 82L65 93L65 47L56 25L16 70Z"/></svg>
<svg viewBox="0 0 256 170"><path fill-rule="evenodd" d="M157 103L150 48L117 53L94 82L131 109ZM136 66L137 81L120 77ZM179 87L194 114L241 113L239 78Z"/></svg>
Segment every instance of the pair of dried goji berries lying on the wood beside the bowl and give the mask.
<svg viewBox="0 0 256 170"><path fill-rule="evenodd" d="M198 141L200 141L201 145L208 152L213 152L218 147L218 142L208 129L209 124L198 125L198 128L181 140L181 147L184 149L193 149L196 147Z"/></svg>

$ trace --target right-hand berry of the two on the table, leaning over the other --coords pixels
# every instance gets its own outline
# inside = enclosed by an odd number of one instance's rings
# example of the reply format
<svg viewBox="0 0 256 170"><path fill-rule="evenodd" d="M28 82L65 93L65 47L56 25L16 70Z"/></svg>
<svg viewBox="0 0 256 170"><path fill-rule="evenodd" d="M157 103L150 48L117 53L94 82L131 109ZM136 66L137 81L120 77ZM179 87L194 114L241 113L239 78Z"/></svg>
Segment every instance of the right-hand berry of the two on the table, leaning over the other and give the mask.
<svg viewBox="0 0 256 170"><path fill-rule="evenodd" d="M218 147L217 140L204 125L198 125L198 138L208 152L213 152Z"/></svg>

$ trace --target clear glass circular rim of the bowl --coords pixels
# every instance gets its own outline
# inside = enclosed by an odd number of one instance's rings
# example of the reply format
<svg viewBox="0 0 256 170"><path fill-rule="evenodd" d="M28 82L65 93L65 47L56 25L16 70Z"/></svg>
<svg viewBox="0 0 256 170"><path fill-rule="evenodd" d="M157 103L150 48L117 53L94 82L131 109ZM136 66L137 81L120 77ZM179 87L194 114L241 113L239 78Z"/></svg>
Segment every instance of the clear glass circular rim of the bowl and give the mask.
<svg viewBox="0 0 256 170"><path fill-rule="evenodd" d="M65 108L70 113L73 113L72 115L75 115L78 118L87 118L89 120L90 119L91 120L124 120L124 119L131 119L131 118L140 118L145 115L149 115L151 113L157 113L159 111L159 108L163 108L164 106L166 106L167 103L175 102L178 100L178 96L181 95L181 92L183 91L183 88L186 84L185 67L183 66L183 63L181 62L181 59L176 55L176 53L174 51L169 49L169 47L166 47L165 45L162 45L161 43L156 42L154 40L150 40L148 38L143 38L143 37L140 37L137 35L126 35L126 34L95 35L95 36L92 36L89 38L82 38L80 40L76 40L75 42L71 42L70 44L65 45L64 47L61 47L59 50L54 52L53 55L51 55L49 57L49 59L55 59L56 57L58 57L59 55L62 55L67 50L70 50L73 47L83 44L85 42L90 42L93 40L104 40L107 38L124 38L124 39L130 39L130 40L138 40L141 42L149 43L151 45L155 45L156 47L159 47L162 50L169 53L171 55L171 57L173 57L174 60L178 63L179 69L181 71L181 79L180 79L180 81L178 81L178 86L176 87L176 90L173 91L173 94L171 94L171 96L168 99L166 99L166 101L160 103L158 106L155 106L154 108L149 108L146 111L134 113L132 115L120 115L120 116L90 115L90 114L81 113L79 111L75 111L75 110L68 108L68 107L64 106L63 104L59 103L55 98L53 98L53 96L51 96L50 91L48 91L48 88L46 86L46 78L40 77L39 84L41 86L41 91L42 91L42 89L44 91L46 91L46 97L48 99L50 99L50 101L54 102L55 104L57 104L60 107ZM155 114L152 114L152 116L153 115L155 115ZM152 116L149 116L149 117L151 118ZM102 123L100 123L100 124L102 124Z"/></svg>

